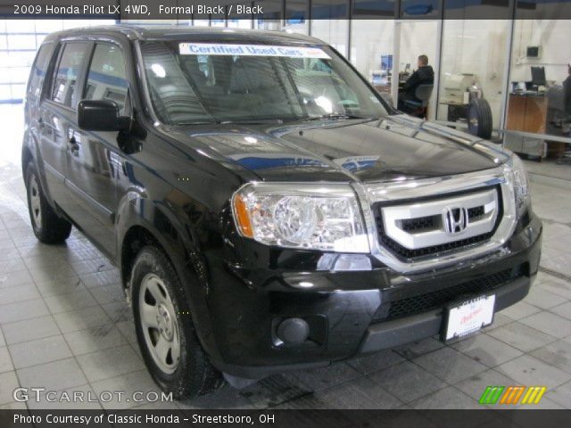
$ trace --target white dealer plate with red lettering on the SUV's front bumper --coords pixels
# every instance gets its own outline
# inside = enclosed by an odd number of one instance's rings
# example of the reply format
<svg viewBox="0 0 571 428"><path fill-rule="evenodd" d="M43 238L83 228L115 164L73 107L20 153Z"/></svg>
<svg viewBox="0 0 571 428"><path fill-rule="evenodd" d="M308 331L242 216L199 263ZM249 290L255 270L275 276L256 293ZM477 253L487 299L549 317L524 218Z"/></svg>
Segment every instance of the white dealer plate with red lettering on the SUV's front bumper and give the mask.
<svg viewBox="0 0 571 428"><path fill-rule="evenodd" d="M451 305L448 309L443 340L450 341L491 325L495 301L495 294L491 294Z"/></svg>

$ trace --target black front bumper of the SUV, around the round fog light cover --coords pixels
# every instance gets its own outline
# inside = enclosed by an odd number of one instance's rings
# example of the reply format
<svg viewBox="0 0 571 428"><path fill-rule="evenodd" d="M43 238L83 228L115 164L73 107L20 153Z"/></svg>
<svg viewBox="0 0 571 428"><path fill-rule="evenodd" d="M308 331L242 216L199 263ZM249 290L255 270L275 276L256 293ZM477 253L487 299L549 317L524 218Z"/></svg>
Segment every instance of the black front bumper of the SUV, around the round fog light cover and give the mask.
<svg viewBox="0 0 571 428"><path fill-rule="evenodd" d="M433 336L443 329L442 296L451 301L480 295L482 290L493 292L494 312L523 299L539 267L541 236L541 222L530 213L501 251L406 276L375 265L367 271L316 271L310 268L315 260L309 255L292 258L291 251L275 254L264 253L259 246L243 248L260 265L272 268L216 269L219 277L212 278L212 284L224 285L211 292L211 342L216 345L207 352L219 370L256 379L327 366ZM503 276L506 273L509 276ZM503 279L490 284L492 276ZM312 286L304 289L301 284ZM471 284L476 288L471 289ZM440 296L440 306L393 318L385 310L394 302L420 301L427 294ZM308 341L295 346L276 342L276 325L288 317L307 320Z"/></svg>

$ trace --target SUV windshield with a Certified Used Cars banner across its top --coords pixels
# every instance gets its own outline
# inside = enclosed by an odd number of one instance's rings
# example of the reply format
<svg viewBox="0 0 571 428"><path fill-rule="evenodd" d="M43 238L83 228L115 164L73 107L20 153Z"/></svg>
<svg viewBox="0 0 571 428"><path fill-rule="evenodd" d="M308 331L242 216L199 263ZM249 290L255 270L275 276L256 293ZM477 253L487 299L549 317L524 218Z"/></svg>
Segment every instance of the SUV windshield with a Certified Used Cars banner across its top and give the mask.
<svg viewBox="0 0 571 428"><path fill-rule="evenodd" d="M376 119L379 97L327 46L146 41L153 109L170 125Z"/></svg>

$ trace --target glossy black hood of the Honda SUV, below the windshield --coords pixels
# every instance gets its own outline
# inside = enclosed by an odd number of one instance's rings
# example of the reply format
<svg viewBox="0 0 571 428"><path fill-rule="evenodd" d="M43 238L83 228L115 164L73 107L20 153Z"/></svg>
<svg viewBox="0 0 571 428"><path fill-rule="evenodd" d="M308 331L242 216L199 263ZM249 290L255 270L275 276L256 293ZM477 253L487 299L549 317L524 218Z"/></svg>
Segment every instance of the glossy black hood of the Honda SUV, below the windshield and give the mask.
<svg viewBox="0 0 571 428"><path fill-rule="evenodd" d="M322 120L287 126L171 128L209 158L267 181L393 181L490 169L500 146L405 115Z"/></svg>

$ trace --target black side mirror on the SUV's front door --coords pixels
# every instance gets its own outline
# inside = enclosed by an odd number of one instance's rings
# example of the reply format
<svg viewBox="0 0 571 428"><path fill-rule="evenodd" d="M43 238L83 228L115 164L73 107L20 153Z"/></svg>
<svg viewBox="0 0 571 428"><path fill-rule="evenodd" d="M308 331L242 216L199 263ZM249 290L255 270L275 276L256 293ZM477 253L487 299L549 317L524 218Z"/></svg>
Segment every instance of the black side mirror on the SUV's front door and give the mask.
<svg viewBox="0 0 571 428"><path fill-rule="evenodd" d="M119 115L119 107L109 100L81 100L78 126L85 131L127 131L131 119Z"/></svg>

